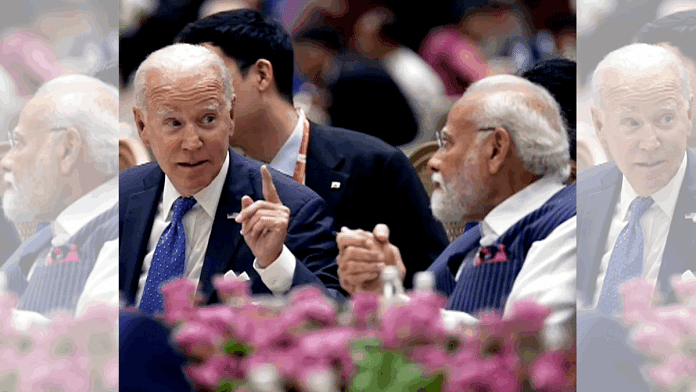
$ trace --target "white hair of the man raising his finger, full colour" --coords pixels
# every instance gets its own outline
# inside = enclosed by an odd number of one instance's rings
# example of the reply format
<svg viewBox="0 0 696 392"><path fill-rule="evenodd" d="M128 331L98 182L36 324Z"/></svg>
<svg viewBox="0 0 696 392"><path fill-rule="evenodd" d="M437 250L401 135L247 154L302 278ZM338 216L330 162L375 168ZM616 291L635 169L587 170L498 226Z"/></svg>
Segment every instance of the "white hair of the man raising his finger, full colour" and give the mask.
<svg viewBox="0 0 696 392"><path fill-rule="evenodd" d="M220 72L222 87L227 102L232 101L234 88L232 76L222 59L210 49L191 44L173 44L151 53L135 72L135 107L147 115L145 101L146 78L150 72L158 71L169 77L190 74L214 67Z"/></svg>

